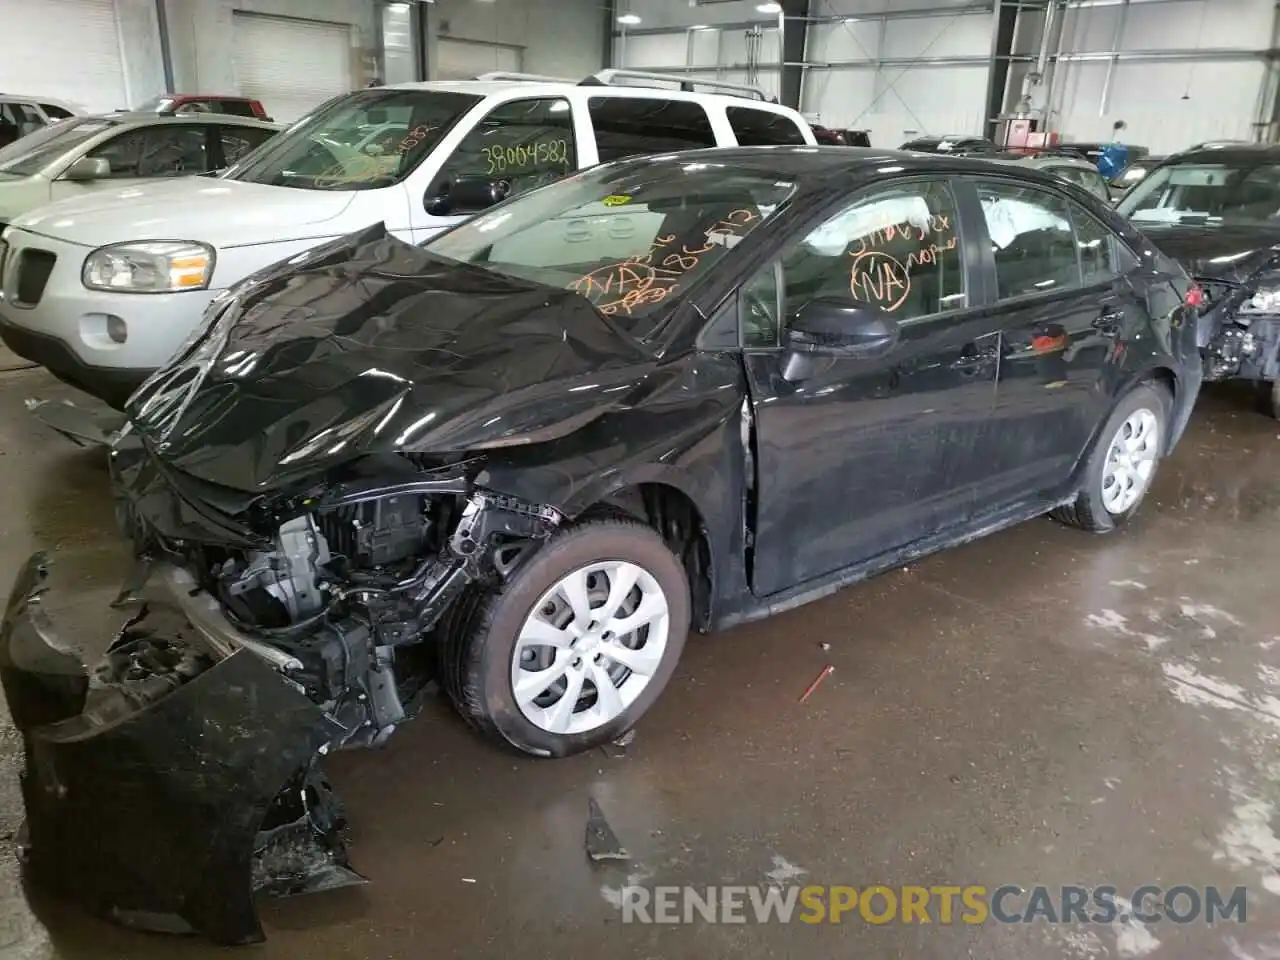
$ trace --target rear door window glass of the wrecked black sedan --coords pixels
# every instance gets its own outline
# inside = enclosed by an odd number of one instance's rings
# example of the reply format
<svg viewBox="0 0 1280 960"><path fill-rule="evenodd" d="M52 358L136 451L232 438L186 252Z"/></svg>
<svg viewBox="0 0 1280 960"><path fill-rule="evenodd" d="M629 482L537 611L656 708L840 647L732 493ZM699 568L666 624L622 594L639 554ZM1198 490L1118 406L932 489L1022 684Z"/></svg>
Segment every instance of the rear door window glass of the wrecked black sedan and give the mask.
<svg viewBox="0 0 1280 960"><path fill-rule="evenodd" d="M1065 200L1011 183L977 187L1001 300L1080 283L1075 233Z"/></svg>

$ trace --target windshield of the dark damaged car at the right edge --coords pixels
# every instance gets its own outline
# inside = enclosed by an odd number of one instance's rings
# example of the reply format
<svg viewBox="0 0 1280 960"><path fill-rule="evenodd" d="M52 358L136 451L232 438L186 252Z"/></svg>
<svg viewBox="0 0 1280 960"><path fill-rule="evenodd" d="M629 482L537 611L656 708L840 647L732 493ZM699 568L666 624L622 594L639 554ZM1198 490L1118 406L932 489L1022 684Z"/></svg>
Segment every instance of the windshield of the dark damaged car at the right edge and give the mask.
<svg viewBox="0 0 1280 960"><path fill-rule="evenodd" d="M1172 164L1140 179L1116 211L1134 223L1276 224L1280 164Z"/></svg>

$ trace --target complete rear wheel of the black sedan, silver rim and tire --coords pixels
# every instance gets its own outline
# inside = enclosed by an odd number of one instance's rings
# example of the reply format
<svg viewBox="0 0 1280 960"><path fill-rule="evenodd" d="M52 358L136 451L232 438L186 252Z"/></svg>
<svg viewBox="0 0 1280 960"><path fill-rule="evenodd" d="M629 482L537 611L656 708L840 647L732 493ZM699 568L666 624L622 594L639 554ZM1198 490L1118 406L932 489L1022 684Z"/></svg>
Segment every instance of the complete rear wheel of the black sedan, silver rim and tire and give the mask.
<svg viewBox="0 0 1280 960"><path fill-rule="evenodd" d="M1172 397L1164 384L1142 383L1116 404L1084 466L1075 500L1055 520L1105 534L1138 512L1165 456Z"/></svg>

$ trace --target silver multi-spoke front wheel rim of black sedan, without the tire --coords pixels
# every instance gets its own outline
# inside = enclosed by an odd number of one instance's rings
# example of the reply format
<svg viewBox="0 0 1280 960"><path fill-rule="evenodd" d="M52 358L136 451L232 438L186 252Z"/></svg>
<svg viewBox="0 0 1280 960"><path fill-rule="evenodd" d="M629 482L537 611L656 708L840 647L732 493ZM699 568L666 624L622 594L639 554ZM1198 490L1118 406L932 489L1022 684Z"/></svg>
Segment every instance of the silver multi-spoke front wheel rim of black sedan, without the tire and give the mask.
<svg viewBox="0 0 1280 960"><path fill-rule="evenodd" d="M616 719L658 671L669 627L667 595L643 567L579 567L541 595L516 639L511 689L520 712L559 735Z"/></svg>

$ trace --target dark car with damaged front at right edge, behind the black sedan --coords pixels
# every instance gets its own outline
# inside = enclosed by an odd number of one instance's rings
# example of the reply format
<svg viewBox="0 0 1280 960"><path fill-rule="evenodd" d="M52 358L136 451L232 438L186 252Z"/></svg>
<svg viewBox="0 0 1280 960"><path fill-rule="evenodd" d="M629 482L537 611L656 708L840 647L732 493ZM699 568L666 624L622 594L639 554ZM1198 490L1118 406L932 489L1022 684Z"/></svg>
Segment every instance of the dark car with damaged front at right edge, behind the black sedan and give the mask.
<svg viewBox="0 0 1280 960"><path fill-rule="evenodd" d="M1203 292L1208 380L1258 385L1280 419L1280 146L1211 146L1170 157L1116 206Z"/></svg>

